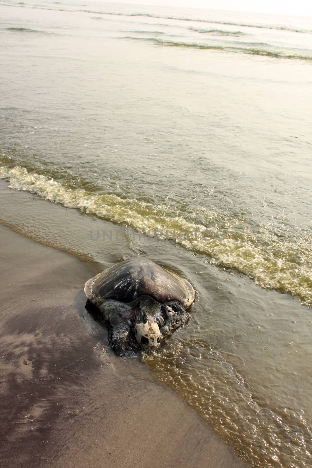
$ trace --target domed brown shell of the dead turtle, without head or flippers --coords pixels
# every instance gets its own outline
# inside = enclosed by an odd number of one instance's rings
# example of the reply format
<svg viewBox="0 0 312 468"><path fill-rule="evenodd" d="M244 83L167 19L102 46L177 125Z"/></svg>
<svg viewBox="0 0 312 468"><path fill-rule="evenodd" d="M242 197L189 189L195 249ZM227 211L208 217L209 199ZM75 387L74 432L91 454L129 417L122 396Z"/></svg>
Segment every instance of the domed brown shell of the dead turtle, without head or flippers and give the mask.
<svg viewBox="0 0 312 468"><path fill-rule="evenodd" d="M178 300L188 307L195 294L189 281L144 257L128 258L89 279L85 293L97 307L108 299L131 302L143 295L161 304Z"/></svg>

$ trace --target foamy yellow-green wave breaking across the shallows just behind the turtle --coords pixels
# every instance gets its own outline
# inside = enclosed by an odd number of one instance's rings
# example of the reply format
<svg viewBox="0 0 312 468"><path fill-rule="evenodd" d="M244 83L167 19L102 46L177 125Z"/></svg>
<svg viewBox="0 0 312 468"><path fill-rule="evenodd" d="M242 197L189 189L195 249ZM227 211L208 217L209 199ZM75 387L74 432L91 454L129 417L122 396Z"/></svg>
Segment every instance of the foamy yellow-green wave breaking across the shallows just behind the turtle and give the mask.
<svg viewBox="0 0 312 468"><path fill-rule="evenodd" d="M252 239L233 232L224 233L225 239L212 236L207 241L195 231L206 229L216 231L216 220L211 216L210 226L196 224L185 219L183 213L166 212L164 206L141 202L131 198L121 198L114 194L96 194L71 186L68 181L56 181L52 177L38 174L21 166L2 164L0 178L16 190L26 190L52 203L61 204L106 219L116 224L131 227L142 233L160 230L167 239L181 244L185 249L204 254L207 261L226 268L233 268L254 279L261 287L298 296L303 305L312 307L311 249L308 240L301 244L275 243L266 249L266 242L252 242ZM229 221L234 223L234 220ZM174 235L182 231L193 233L187 236ZM184 239L185 237L185 239ZM274 250L274 255L272 251ZM310 253L309 253L310 252ZM297 258L297 262L294 261Z"/></svg>

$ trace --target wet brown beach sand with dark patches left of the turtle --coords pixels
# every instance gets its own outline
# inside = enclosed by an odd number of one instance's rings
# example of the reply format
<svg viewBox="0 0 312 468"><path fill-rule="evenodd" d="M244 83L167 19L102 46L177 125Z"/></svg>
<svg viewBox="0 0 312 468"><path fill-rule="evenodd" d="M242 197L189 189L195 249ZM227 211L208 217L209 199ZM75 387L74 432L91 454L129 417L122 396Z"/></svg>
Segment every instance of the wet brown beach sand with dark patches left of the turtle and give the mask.
<svg viewBox="0 0 312 468"><path fill-rule="evenodd" d="M241 461L85 309L91 263L0 226L1 467L231 467ZM28 362L28 364L25 364Z"/></svg>

